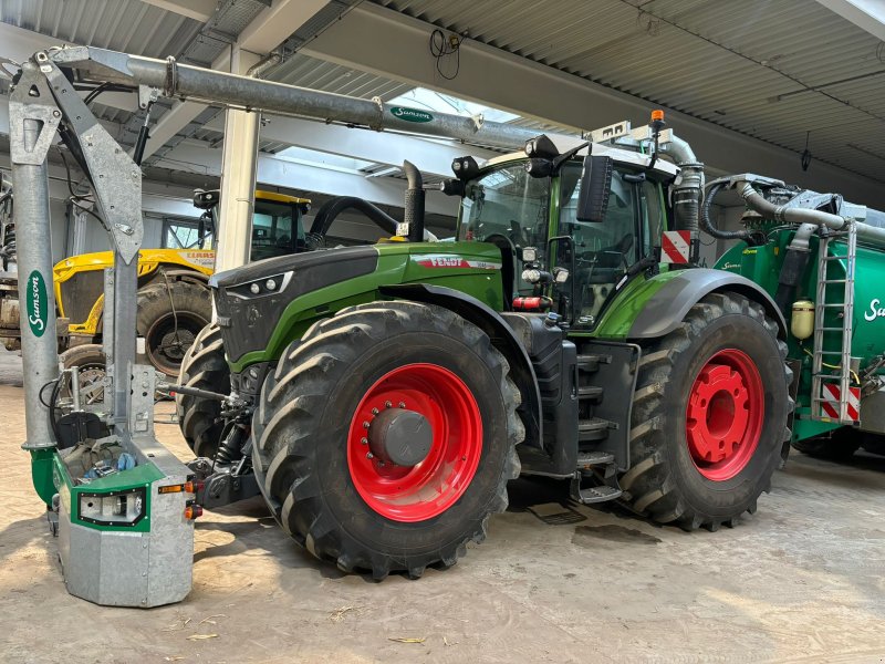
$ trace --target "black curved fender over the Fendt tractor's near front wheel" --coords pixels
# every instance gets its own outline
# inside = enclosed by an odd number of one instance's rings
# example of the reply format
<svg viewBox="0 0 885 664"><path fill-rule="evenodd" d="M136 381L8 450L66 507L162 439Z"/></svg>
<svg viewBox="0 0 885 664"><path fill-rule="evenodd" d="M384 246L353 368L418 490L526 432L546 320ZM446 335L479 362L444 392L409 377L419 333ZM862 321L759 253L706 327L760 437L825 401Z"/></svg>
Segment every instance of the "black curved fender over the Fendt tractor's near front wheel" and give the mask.
<svg viewBox="0 0 885 664"><path fill-rule="evenodd" d="M441 286L403 283L383 286L378 291L389 298L445 307L488 334L492 345L507 357L510 375L522 393L520 412L525 424L525 442L528 445L542 446L541 391L534 367L519 338L497 311L476 298Z"/></svg>

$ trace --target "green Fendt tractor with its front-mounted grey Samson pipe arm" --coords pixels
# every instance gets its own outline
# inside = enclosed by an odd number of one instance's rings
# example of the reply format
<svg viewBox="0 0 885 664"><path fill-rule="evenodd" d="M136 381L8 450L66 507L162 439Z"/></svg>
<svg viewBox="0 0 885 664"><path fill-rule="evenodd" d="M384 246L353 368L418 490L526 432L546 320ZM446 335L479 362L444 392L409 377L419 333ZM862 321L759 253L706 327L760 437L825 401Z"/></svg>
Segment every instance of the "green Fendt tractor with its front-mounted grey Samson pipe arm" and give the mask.
<svg viewBox="0 0 885 664"><path fill-rule="evenodd" d="M523 149L454 162L454 241L426 241L425 187L406 162L393 241L215 273L217 324L169 386L199 455L184 465L155 439L155 376L136 354L137 160L72 81ZM481 117L424 113L415 125L402 111L93 48L22 65L10 126L24 448L72 593L180 600L194 519L258 492L306 550L376 579L454 564L520 474L685 529L756 510L790 437L789 331L753 281L693 267L704 168L663 115L583 141ZM56 132L115 248L101 404L82 403L76 367L59 375L51 253L32 240L49 224Z"/></svg>

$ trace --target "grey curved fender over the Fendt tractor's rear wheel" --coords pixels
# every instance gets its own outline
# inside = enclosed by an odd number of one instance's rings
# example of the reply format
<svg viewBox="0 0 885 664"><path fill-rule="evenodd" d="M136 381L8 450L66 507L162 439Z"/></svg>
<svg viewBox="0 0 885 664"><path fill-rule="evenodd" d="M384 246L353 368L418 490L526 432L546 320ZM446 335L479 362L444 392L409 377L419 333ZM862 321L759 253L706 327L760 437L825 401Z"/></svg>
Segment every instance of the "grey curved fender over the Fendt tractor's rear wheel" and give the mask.
<svg viewBox="0 0 885 664"><path fill-rule="evenodd" d="M766 314L778 323L778 336L787 339L787 322L771 295L746 277L707 268L681 270L678 277L660 287L634 319L627 339L657 339L669 334L701 298L721 291L759 302Z"/></svg>

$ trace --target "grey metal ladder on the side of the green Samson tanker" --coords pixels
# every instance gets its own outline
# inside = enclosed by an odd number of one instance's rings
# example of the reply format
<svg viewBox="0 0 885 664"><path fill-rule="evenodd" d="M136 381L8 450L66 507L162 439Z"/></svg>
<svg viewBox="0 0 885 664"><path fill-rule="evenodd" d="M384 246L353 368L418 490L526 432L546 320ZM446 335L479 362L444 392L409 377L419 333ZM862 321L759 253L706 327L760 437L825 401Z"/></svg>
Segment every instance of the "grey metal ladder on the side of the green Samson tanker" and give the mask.
<svg viewBox="0 0 885 664"><path fill-rule="evenodd" d="M831 255L830 242L845 238L845 256ZM852 407L851 384L852 384L852 359L851 341L854 320L854 278L857 253L857 228L854 222L847 225L847 230L830 231L820 235L818 245L818 293L814 300L814 353L812 355L812 419L832 422L832 411L827 413L826 406L837 406L839 423L847 425L857 424L857 407ZM844 262L844 279L830 279L829 268L833 261ZM831 302L826 299L827 287L842 284L842 301ZM832 290L830 289L831 294ZM842 319L840 326L826 326L825 319L827 310L839 310L837 317ZM827 334L840 335L837 351L824 350L824 336ZM839 357L839 365L826 362L825 357ZM825 371L825 370L829 370ZM839 390L833 391L833 386ZM825 392L824 392L825 391ZM852 416L852 412L854 415Z"/></svg>

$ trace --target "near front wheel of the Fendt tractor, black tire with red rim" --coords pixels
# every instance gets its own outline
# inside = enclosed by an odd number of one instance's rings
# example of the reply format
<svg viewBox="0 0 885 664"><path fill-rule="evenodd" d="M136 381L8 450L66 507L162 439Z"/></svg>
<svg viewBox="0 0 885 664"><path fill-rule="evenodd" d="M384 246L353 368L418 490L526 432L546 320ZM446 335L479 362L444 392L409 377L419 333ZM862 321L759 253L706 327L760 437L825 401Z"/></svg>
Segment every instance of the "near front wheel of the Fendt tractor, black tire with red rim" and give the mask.
<svg viewBox="0 0 885 664"><path fill-rule="evenodd" d="M316 323L283 352L252 421L268 505L345 572L454 564L519 475L508 372L482 331L439 307L375 302Z"/></svg>

